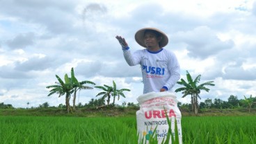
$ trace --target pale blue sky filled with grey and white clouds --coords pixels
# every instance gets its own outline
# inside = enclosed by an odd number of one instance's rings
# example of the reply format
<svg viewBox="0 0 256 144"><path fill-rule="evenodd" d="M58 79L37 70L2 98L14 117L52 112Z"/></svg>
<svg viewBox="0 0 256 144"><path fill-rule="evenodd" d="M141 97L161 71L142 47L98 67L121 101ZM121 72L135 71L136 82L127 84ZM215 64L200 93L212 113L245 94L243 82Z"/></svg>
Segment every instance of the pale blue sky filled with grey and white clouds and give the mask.
<svg viewBox="0 0 256 144"><path fill-rule="evenodd" d="M115 35L127 39L131 51L141 49L134 40L138 29L155 27L169 37L166 48L200 82L214 80L206 98L227 100L230 95L256 96L256 3L253 0L0 0L0 102L14 107L65 103L47 97L55 75L79 81L128 88L135 102L143 93L140 66L128 66ZM90 85L88 85L90 86ZM175 85L174 89L180 87ZM99 89L84 90L77 102L95 98ZM181 98L180 102L190 102Z"/></svg>

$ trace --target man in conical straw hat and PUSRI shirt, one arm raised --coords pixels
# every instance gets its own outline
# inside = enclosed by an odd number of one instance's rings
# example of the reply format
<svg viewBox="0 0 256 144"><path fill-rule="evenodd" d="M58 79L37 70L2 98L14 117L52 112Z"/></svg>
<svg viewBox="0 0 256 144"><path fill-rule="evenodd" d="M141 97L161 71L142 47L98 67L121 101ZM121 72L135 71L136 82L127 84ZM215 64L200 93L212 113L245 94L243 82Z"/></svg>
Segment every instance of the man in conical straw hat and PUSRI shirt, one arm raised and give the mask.
<svg viewBox="0 0 256 144"><path fill-rule="evenodd" d="M163 48L168 44L168 37L157 28L142 28L135 34L138 44L145 47L131 54L125 39L116 36L129 66L141 64L143 75L143 93L152 91L171 91L180 78L179 62L173 52Z"/></svg>

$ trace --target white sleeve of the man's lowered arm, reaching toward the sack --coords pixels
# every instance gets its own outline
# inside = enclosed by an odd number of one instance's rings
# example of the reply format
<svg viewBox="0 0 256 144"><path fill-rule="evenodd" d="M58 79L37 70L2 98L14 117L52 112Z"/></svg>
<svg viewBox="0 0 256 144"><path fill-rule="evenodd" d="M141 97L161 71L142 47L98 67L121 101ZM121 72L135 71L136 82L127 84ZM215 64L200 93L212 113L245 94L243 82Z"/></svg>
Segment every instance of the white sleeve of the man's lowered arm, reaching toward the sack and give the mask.
<svg viewBox="0 0 256 144"><path fill-rule="evenodd" d="M168 57L168 71L170 71L170 78L168 79L166 84L164 84L163 89L170 90L174 87L174 85L180 78L180 68L175 53L170 53Z"/></svg>

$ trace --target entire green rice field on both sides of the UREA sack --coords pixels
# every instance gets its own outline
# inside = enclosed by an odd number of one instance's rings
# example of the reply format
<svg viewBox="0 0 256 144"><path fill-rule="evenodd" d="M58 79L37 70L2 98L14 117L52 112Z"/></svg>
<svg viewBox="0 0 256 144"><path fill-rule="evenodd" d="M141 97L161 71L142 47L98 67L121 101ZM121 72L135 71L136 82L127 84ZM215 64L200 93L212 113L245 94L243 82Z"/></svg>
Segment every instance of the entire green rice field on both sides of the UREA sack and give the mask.
<svg viewBox="0 0 256 144"><path fill-rule="evenodd" d="M183 143L256 143L256 116L183 117ZM134 117L0 116L0 143L137 143Z"/></svg>

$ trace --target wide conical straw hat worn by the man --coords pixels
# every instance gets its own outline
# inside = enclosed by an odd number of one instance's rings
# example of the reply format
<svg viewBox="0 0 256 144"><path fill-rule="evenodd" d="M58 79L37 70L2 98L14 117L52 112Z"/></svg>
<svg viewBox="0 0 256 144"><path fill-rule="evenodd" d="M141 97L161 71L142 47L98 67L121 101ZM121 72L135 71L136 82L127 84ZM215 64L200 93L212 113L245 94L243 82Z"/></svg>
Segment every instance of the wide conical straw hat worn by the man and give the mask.
<svg viewBox="0 0 256 144"><path fill-rule="evenodd" d="M165 33L163 33L161 30L157 29L157 28L142 28L141 30L138 30L136 33L135 33L135 40L136 42L147 48L147 46L145 45L145 42L144 42L144 33L145 33L145 30L154 30L154 31L157 31L158 33L161 34L161 41L159 42L159 46L160 48L163 48L164 46L166 46L168 44L168 37Z"/></svg>

